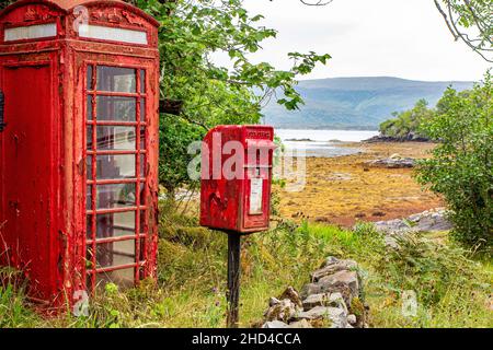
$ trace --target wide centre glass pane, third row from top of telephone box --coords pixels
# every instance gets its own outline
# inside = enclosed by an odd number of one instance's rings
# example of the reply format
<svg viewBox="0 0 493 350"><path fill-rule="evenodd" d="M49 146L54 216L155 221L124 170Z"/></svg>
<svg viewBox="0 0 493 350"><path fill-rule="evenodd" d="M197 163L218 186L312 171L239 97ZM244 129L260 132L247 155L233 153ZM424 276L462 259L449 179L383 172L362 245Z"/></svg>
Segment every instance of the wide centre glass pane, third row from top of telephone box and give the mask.
<svg viewBox="0 0 493 350"><path fill-rule="evenodd" d="M98 150L135 150L134 127L98 127Z"/></svg>

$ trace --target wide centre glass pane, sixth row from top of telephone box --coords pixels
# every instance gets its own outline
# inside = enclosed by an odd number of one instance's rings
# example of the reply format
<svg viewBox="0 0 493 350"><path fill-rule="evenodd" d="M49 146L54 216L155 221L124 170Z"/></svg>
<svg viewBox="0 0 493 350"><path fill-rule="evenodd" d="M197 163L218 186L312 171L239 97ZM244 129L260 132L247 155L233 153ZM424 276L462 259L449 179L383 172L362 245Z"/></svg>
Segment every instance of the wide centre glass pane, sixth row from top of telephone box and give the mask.
<svg viewBox="0 0 493 350"><path fill-rule="evenodd" d="M98 214L98 238L135 235L135 211Z"/></svg>

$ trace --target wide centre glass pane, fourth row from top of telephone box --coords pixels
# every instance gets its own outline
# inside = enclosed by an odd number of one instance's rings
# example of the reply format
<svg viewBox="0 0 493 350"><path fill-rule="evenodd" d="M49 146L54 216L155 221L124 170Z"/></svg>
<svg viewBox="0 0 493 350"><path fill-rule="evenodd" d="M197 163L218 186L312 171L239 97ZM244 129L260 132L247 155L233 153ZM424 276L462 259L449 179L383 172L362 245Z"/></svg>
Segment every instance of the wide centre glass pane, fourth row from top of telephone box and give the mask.
<svg viewBox="0 0 493 350"><path fill-rule="evenodd" d="M135 154L98 155L98 179L136 177Z"/></svg>

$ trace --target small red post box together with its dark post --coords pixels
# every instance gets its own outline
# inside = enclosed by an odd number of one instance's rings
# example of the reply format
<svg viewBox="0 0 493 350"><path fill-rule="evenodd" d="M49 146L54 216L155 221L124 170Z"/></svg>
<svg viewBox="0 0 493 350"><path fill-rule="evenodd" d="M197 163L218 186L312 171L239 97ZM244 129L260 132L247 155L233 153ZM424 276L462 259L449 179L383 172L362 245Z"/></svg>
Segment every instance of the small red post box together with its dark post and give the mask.
<svg viewBox="0 0 493 350"><path fill-rule="evenodd" d="M202 147L200 224L228 234L228 327L238 327L241 235L268 229L274 129L219 126Z"/></svg>

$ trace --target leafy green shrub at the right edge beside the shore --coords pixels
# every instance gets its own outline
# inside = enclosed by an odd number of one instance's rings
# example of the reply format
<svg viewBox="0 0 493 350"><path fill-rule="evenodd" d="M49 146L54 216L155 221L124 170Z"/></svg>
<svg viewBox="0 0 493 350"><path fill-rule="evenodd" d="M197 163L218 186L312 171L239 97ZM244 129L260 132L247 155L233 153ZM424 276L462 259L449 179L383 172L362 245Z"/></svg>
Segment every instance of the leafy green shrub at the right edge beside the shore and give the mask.
<svg viewBox="0 0 493 350"><path fill-rule="evenodd" d="M447 201L454 237L490 252L493 243L493 82L445 92L439 112L422 128L440 141L420 163L417 179Z"/></svg>

